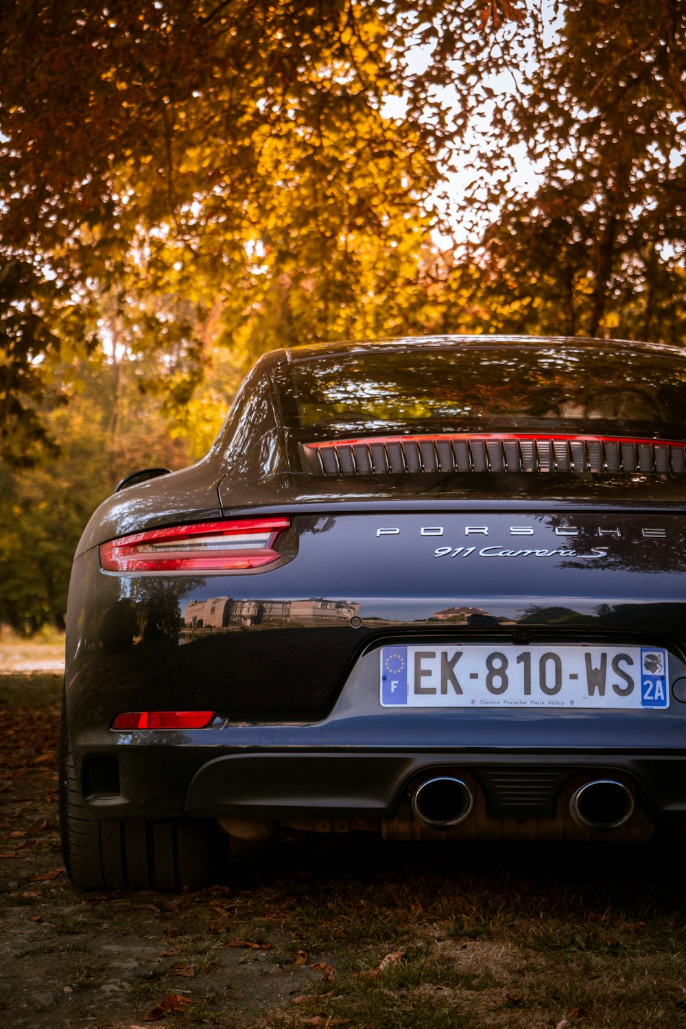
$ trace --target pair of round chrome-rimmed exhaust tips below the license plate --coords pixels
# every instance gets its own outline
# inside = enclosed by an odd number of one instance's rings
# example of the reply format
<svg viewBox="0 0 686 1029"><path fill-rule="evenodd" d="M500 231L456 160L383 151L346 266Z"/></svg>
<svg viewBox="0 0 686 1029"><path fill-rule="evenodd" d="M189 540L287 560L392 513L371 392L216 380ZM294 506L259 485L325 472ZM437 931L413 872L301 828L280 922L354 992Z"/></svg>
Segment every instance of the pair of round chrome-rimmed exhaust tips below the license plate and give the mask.
<svg viewBox="0 0 686 1029"><path fill-rule="evenodd" d="M431 828L452 828L469 817L474 794L456 776L436 776L421 783L411 799L414 817ZM634 814L634 794L616 779L594 779L574 791L570 813L584 828L616 829Z"/></svg>

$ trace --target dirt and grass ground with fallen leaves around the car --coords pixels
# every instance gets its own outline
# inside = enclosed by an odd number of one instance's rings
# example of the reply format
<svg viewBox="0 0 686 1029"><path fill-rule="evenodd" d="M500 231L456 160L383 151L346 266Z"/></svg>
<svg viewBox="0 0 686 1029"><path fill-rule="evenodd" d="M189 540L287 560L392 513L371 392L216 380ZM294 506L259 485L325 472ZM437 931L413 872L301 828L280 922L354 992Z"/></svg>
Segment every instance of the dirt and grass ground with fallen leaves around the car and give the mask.
<svg viewBox="0 0 686 1029"><path fill-rule="evenodd" d="M686 1026L683 844L238 845L230 885L62 870L59 678L0 680L0 1020L136 1029Z"/></svg>

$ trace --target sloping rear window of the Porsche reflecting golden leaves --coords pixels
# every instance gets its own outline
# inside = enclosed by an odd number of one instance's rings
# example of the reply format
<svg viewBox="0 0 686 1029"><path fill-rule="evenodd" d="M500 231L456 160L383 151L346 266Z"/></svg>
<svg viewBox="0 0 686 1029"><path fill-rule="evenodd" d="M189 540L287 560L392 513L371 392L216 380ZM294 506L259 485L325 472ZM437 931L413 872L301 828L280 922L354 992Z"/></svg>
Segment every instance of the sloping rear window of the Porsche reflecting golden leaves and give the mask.
<svg viewBox="0 0 686 1029"><path fill-rule="evenodd" d="M311 358L277 375L295 429L684 422L686 362L631 350L388 350Z"/></svg>

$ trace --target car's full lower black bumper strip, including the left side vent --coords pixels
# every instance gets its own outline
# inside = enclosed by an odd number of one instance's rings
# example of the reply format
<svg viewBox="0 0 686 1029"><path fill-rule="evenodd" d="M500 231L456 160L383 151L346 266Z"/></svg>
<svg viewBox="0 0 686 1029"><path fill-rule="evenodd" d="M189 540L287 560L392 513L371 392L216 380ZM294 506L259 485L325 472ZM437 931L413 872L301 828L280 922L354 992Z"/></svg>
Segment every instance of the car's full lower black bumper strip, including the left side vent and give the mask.
<svg viewBox="0 0 686 1029"><path fill-rule="evenodd" d="M388 820L435 774L467 777L489 819L555 819L577 786L613 778L627 784L650 822L686 823L684 752L217 753L157 746L91 752L81 764L95 818Z"/></svg>

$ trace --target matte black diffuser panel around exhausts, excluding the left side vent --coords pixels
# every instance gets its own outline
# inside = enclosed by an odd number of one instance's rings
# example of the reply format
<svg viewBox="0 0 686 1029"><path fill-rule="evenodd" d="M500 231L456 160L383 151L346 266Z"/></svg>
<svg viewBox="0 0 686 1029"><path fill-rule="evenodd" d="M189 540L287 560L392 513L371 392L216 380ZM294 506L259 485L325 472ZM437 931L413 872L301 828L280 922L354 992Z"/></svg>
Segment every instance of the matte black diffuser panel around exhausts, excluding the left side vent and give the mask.
<svg viewBox="0 0 686 1029"><path fill-rule="evenodd" d="M189 816L390 818L416 782L466 774L491 818L553 818L570 783L624 776L653 817L686 818L686 755L241 754L209 761L193 777Z"/></svg>

